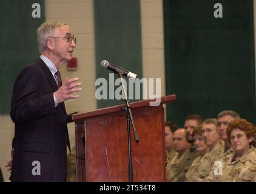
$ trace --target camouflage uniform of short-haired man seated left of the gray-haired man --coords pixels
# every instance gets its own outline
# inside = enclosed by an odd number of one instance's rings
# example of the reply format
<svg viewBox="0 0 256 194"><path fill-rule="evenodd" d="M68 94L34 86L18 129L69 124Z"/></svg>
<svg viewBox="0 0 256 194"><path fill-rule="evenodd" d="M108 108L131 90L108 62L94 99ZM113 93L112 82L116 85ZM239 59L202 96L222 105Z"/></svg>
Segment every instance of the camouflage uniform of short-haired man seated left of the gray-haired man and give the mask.
<svg viewBox="0 0 256 194"><path fill-rule="evenodd" d="M200 159L200 164L198 164L197 172L194 173L193 177L190 177L190 181L200 181L200 179L208 176L215 161L219 161L224 153L224 142L221 140L212 149L206 152L204 156Z"/></svg>

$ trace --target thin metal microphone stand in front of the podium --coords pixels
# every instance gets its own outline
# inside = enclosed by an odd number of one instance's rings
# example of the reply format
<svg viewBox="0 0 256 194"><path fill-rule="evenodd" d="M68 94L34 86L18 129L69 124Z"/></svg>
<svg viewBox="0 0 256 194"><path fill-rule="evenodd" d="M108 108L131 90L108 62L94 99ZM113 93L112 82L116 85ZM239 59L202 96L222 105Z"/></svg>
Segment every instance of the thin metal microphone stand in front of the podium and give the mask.
<svg viewBox="0 0 256 194"><path fill-rule="evenodd" d="M134 120L133 120L133 116L132 116L132 109L130 107L129 98L127 97L126 88L124 87L123 74L119 73L119 75L120 75L123 90L124 90L124 98L125 98L124 101L126 101L126 119L127 119L128 154L129 154L128 172L129 172L129 181L132 182L133 181L133 172L132 172L132 149L131 149L132 146L131 146L131 143L130 143L130 121L132 121L132 128L133 128L135 141L139 142L140 139L139 139L139 136L136 132L136 128L135 128L135 124L134 124Z"/></svg>

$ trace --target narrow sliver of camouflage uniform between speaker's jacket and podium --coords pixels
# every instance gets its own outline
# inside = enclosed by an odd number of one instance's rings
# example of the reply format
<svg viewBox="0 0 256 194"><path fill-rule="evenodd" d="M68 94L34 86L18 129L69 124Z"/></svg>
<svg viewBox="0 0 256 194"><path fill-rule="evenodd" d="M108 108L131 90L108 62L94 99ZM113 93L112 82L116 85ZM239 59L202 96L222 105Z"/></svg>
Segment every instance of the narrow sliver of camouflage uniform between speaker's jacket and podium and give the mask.
<svg viewBox="0 0 256 194"><path fill-rule="evenodd" d="M72 147L67 155L67 182L76 182L76 147Z"/></svg>

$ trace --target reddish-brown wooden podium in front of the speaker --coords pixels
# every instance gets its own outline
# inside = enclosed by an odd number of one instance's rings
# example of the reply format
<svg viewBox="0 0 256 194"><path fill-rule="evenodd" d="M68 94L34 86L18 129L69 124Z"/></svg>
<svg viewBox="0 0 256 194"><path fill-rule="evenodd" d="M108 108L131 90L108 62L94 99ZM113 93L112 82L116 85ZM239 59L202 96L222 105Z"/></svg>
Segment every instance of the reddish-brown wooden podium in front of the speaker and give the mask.
<svg viewBox="0 0 256 194"><path fill-rule="evenodd" d="M150 100L130 104L140 138L135 142L130 125L133 181L166 181L163 104L175 99L163 96L159 106L149 106ZM129 181L125 108L116 105L72 116L78 181Z"/></svg>

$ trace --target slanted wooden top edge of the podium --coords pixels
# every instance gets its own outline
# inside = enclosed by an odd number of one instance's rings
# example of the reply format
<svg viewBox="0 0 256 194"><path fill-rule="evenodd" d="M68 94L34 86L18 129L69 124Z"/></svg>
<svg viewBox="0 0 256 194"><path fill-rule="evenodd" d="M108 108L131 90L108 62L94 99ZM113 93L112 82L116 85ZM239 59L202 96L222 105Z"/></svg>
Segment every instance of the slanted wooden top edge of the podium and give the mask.
<svg viewBox="0 0 256 194"><path fill-rule="evenodd" d="M176 95L161 96L160 98L161 98L161 101L160 101L160 105L161 105L161 104L164 104L167 102L175 101ZM155 99L146 99L144 101L132 102L132 103L130 103L130 106L132 107L132 109L149 107L149 103L154 102L154 101L155 101ZM120 112L121 109L126 109L126 105L120 104L120 105L115 105L113 107L107 107L104 109L92 110L92 111L86 112L86 113L74 114L74 115L72 115L72 120L79 121L80 119L90 118L93 116L102 116L102 115L106 115L108 113Z"/></svg>

